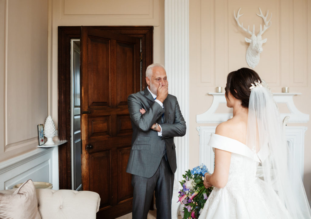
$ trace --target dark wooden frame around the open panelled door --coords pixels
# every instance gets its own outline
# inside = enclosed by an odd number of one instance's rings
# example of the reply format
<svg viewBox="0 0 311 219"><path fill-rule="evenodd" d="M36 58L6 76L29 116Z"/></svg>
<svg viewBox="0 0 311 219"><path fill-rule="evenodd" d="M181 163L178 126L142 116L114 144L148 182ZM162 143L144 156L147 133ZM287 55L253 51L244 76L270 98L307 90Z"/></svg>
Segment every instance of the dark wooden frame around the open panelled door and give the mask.
<svg viewBox="0 0 311 219"><path fill-rule="evenodd" d="M141 39L142 90L146 86L146 68L153 63L153 26L91 26L100 30ZM70 49L71 39L81 38L81 26L58 26L58 138L67 143L58 147L59 189L71 187L70 145ZM83 185L82 185L83 188Z"/></svg>

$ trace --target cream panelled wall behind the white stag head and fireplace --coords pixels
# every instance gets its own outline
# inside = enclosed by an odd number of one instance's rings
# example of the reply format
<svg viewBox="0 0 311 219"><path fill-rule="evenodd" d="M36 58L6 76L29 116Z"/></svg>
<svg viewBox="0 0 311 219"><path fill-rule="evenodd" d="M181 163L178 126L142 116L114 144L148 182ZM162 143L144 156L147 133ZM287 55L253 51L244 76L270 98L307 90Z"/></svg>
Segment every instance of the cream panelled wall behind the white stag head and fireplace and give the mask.
<svg viewBox="0 0 311 219"><path fill-rule="evenodd" d="M190 124L189 168L196 165L199 153L196 115L205 112L212 102L208 92L225 87L229 72L248 67L245 54L249 37L234 20L234 10L242 7L240 22L244 27L255 24L259 31L262 19L256 15L261 7L264 14L272 12L272 26L263 34L267 43L255 71L265 79L272 92L290 87L290 92L302 93L294 97L297 108L311 115L311 1L310 0L192 0L189 1L189 48L190 48ZM270 15L269 15L270 17ZM222 109L230 111L230 109ZM304 185L311 199L311 122L289 124L307 126L305 136Z"/></svg>

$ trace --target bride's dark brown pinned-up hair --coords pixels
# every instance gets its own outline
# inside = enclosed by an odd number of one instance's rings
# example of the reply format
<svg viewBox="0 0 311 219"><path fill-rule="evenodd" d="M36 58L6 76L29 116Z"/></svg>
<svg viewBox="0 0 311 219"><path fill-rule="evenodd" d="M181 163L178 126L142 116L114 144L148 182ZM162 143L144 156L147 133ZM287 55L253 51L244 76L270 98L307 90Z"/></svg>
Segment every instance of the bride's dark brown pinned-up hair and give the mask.
<svg viewBox="0 0 311 219"><path fill-rule="evenodd" d="M228 98L228 93L230 93L242 101L242 107L248 108L249 96L251 94L251 83L258 81L260 79L259 75L252 69L241 68L239 70L230 72L227 76L227 84L225 87L225 95Z"/></svg>

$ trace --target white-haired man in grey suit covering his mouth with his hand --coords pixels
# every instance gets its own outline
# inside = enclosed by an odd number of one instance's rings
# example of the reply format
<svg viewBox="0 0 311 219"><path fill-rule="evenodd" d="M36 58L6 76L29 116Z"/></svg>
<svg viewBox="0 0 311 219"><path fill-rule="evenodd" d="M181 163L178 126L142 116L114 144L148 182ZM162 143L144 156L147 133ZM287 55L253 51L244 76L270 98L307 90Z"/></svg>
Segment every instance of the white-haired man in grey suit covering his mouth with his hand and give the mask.
<svg viewBox="0 0 311 219"><path fill-rule="evenodd" d="M132 174L132 218L147 218L156 196L157 219L171 218L176 152L174 137L186 134L186 122L177 98L168 94L164 67L146 69L148 86L128 96L133 136L126 172Z"/></svg>

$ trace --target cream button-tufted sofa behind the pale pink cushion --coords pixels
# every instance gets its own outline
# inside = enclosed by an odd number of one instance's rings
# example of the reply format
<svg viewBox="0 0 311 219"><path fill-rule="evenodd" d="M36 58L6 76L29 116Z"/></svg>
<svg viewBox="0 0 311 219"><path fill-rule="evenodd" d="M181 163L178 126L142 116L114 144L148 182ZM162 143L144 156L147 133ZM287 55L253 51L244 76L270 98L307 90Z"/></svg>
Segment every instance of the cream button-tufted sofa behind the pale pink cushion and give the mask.
<svg viewBox="0 0 311 219"><path fill-rule="evenodd" d="M15 189L0 193L12 194ZM42 219L96 218L100 197L95 192L75 190L36 189Z"/></svg>

